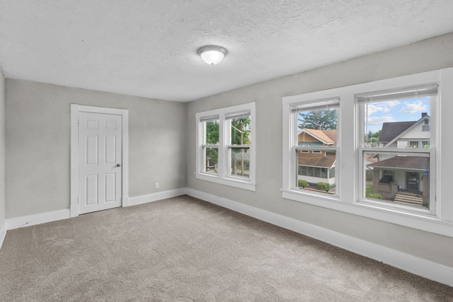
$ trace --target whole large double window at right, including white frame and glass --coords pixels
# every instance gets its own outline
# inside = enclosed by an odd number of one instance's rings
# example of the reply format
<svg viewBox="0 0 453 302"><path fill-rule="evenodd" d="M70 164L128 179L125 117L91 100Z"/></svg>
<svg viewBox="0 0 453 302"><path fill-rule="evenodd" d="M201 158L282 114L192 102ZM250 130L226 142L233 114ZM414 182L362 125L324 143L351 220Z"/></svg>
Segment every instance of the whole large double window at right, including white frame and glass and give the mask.
<svg viewBox="0 0 453 302"><path fill-rule="evenodd" d="M282 197L452 236L452 83L449 68L283 98ZM301 115L335 103L336 144L299 139ZM323 177L328 191L312 188Z"/></svg>

